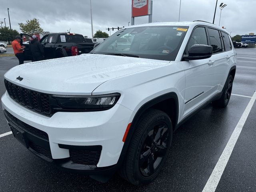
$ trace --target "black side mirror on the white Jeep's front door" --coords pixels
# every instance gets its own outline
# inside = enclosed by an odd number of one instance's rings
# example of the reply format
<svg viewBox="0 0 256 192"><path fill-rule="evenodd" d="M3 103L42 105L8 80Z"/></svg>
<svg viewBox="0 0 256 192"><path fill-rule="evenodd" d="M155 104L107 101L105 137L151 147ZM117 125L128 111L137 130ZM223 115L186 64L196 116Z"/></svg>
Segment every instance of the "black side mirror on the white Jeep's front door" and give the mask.
<svg viewBox="0 0 256 192"><path fill-rule="evenodd" d="M188 50L188 55L183 56L183 60L198 60L198 59L207 59L212 56L212 46L208 45L192 45Z"/></svg>

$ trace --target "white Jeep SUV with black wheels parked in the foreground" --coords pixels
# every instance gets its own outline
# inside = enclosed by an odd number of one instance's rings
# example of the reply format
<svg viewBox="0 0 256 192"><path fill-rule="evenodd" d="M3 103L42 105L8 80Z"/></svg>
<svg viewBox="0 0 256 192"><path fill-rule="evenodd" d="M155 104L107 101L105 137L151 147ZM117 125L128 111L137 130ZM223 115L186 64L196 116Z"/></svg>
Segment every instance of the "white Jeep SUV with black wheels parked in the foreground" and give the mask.
<svg viewBox="0 0 256 192"><path fill-rule="evenodd" d="M118 170L143 185L160 173L185 120L210 102L226 107L235 72L222 28L142 24L90 54L12 68L2 106L15 138L44 160L96 179Z"/></svg>

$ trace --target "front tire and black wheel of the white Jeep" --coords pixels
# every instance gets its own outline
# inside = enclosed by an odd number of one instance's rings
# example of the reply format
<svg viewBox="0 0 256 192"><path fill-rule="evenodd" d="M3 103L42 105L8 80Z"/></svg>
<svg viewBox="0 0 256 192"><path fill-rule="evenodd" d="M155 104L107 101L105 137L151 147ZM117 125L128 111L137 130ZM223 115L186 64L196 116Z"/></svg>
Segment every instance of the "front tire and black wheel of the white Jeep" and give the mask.
<svg viewBox="0 0 256 192"><path fill-rule="evenodd" d="M120 175L137 186L152 182L166 161L171 142L169 116L160 110L148 110L136 126Z"/></svg>

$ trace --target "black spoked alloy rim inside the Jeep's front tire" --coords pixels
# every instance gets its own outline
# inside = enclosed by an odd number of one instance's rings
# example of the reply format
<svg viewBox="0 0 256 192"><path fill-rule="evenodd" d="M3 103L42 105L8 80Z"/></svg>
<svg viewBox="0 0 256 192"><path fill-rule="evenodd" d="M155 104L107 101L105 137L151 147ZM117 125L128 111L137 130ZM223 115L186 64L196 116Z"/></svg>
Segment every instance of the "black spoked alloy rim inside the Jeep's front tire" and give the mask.
<svg viewBox="0 0 256 192"><path fill-rule="evenodd" d="M170 138L166 124L160 122L148 132L139 160L140 172L143 176L151 176L162 164L168 143L170 143Z"/></svg>

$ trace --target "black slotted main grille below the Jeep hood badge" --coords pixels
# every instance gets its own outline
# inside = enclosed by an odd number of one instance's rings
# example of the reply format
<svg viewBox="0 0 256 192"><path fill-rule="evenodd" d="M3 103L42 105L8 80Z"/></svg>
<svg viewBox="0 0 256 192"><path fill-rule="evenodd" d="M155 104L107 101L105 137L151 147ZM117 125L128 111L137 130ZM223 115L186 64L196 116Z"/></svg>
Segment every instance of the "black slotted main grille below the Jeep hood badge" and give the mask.
<svg viewBox="0 0 256 192"><path fill-rule="evenodd" d="M16 102L38 113L44 115L51 114L49 94L40 93L18 86L7 81L6 79L4 80L4 84L9 96Z"/></svg>

